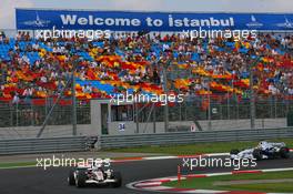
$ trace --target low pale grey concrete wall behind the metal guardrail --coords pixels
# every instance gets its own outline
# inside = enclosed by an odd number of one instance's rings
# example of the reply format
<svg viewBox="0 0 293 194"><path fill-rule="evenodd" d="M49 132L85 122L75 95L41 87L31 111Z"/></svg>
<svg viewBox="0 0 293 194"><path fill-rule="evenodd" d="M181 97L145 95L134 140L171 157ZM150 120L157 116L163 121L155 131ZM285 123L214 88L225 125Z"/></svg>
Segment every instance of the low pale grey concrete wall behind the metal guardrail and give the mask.
<svg viewBox="0 0 293 194"><path fill-rule="evenodd" d="M124 123L125 129L119 130L119 124ZM209 121L199 121L204 131L208 130ZM190 131L190 126L193 121L184 122L170 122L171 131L180 131L180 127L184 127L184 131ZM286 119L264 119L255 120L256 129L273 129L286 126ZM0 139L21 139L21 137L36 137L41 126L18 126L18 127L0 127ZM101 127L97 123L80 124L78 125L78 135L101 135ZM110 135L123 135L135 134L135 122L111 122L109 123L108 132ZM178 130L176 130L178 129ZM250 129L250 120L213 120L212 130L246 130ZM140 123L139 133L153 133L153 123ZM155 133L164 133L164 122L155 123ZM72 135L72 125L48 125L43 131L41 137L53 136L68 136Z"/></svg>

